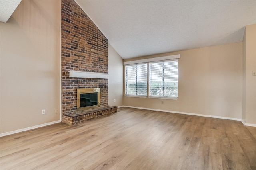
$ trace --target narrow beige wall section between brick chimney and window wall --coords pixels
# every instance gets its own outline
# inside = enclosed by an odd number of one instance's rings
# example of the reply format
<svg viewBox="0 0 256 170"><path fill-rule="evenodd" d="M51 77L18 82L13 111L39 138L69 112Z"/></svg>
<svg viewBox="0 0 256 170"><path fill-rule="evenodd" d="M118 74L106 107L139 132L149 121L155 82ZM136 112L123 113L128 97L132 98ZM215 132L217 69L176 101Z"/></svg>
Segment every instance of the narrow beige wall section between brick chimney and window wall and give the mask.
<svg viewBox="0 0 256 170"><path fill-rule="evenodd" d="M114 102L116 99L116 102ZM123 105L123 59L108 43L108 105Z"/></svg>

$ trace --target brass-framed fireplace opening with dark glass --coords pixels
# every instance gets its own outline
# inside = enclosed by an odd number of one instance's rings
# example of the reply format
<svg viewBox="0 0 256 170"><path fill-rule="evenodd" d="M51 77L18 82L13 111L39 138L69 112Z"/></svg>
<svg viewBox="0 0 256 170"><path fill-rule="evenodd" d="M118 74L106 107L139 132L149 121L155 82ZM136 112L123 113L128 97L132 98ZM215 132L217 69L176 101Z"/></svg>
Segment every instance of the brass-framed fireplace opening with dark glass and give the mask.
<svg viewBox="0 0 256 170"><path fill-rule="evenodd" d="M77 111L100 107L100 88L77 89Z"/></svg>

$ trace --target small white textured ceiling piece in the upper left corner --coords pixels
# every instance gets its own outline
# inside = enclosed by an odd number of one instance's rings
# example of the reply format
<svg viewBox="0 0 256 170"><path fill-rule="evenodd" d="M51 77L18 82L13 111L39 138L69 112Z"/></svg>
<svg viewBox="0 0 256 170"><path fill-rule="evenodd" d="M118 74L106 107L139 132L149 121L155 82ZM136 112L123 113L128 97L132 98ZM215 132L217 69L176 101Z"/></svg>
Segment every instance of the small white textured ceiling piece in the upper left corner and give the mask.
<svg viewBox="0 0 256 170"><path fill-rule="evenodd" d="M21 0L0 0L0 21L7 22Z"/></svg>

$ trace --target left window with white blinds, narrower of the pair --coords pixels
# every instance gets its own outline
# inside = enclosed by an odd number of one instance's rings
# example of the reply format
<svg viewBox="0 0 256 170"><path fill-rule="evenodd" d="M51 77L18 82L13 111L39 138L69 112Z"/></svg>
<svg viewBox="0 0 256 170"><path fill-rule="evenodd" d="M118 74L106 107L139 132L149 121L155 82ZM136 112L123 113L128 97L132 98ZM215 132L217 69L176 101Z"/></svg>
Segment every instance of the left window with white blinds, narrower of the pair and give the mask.
<svg viewBox="0 0 256 170"><path fill-rule="evenodd" d="M125 94L147 96L147 63L125 66Z"/></svg>

